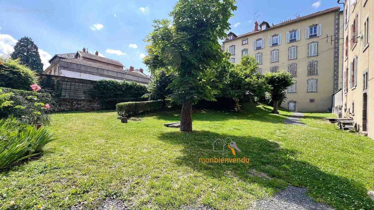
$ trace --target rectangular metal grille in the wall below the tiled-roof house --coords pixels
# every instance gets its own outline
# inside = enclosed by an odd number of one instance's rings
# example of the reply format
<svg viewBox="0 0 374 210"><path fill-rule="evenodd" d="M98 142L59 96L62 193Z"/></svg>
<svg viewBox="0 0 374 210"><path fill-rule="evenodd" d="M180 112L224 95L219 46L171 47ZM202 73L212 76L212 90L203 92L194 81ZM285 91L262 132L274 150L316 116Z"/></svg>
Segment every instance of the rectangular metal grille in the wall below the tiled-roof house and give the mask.
<svg viewBox="0 0 374 210"><path fill-rule="evenodd" d="M61 93L61 98L92 98L89 94L89 90L93 88L92 84L58 80L58 87L59 92Z"/></svg>

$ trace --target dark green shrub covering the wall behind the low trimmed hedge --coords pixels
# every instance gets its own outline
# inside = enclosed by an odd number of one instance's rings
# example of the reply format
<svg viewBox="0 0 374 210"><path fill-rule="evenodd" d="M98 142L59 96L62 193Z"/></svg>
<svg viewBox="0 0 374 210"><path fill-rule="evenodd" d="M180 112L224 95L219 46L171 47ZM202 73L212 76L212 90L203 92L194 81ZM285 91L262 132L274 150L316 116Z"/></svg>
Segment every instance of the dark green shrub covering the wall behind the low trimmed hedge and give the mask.
<svg viewBox="0 0 374 210"><path fill-rule="evenodd" d="M119 82L114 80L99 80L93 83L92 98L97 98L100 105L106 109L114 109L116 104L128 101L146 101L142 98L147 93L145 85L136 82Z"/></svg>

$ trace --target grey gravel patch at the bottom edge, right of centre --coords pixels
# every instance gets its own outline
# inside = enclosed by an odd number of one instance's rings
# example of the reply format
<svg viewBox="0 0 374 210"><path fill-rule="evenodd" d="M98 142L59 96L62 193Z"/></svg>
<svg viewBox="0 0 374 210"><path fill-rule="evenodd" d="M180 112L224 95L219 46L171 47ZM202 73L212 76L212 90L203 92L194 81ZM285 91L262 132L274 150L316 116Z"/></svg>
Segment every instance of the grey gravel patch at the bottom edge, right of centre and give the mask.
<svg viewBox="0 0 374 210"><path fill-rule="evenodd" d="M288 186L273 198L257 201L252 210L334 210L327 204L313 201L307 196L305 188Z"/></svg>

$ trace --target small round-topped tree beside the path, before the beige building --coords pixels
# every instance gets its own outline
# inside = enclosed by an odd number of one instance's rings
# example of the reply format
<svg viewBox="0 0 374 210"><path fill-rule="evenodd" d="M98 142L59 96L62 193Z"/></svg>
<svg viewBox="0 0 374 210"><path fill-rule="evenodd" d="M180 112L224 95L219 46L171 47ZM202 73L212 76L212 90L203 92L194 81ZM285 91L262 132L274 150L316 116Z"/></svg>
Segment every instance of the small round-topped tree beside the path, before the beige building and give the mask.
<svg viewBox="0 0 374 210"><path fill-rule="evenodd" d="M271 99L274 102L273 113L279 114L278 103L283 100L286 95L287 87L294 84L292 75L285 71L280 72L267 72L265 75L265 80L269 85L268 92L271 95ZM282 103L282 101L281 101Z"/></svg>

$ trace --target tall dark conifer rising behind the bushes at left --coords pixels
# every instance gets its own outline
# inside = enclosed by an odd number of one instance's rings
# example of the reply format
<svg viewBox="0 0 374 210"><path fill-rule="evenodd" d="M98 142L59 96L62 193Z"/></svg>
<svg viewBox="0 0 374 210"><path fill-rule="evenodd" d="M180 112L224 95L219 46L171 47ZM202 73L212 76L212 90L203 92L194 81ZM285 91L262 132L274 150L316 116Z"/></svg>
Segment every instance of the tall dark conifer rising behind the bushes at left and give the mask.
<svg viewBox="0 0 374 210"><path fill-rule="evenodd" d="M43 72L38 46L29 37L20 38L14 46L14 52L10 56L12 59L18 58L21 64L26 65L33 71Z"/></svg>

